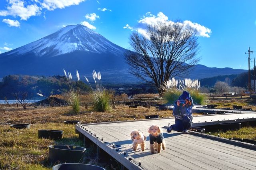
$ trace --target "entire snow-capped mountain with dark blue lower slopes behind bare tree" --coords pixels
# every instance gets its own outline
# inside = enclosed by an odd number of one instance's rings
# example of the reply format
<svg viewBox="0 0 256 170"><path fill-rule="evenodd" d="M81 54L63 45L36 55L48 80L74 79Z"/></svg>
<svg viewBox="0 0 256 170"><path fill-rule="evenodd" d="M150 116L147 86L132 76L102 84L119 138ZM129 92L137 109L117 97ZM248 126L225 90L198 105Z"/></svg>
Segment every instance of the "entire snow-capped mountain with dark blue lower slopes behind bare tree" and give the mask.
<svg viewBox="0 0 256 170"><path fill-rule="evenodd" d="M40 40L0 54L0 77L12 74L63 75L63 69L80 77L100 71L112 83L140 81L128 72L124 49L86 26L70 25ZM239 74L242 69L210 68L196 65L189 78Z"/></svg>

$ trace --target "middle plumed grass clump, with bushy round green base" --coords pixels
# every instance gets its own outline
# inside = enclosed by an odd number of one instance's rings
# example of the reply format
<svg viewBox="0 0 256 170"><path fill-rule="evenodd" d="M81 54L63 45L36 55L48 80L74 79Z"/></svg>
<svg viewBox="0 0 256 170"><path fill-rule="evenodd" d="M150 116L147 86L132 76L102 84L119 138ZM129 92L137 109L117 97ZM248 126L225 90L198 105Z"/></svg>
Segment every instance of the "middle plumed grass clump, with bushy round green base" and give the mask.
<svg viewBox="0 0 256 170"><path fill-rule="evenodd" d="M84 76L85 77L85 76ZM111 94L102 87L101 83L101 74L100 72L96 73L94 70L92 72L92 78L94 79L94 83L96 85L96 89L93 89L90 85L90 82L85 77L86 81L89 83L92 93L93 93L93 108L99 112L107 112L111 110Z"/></svg>

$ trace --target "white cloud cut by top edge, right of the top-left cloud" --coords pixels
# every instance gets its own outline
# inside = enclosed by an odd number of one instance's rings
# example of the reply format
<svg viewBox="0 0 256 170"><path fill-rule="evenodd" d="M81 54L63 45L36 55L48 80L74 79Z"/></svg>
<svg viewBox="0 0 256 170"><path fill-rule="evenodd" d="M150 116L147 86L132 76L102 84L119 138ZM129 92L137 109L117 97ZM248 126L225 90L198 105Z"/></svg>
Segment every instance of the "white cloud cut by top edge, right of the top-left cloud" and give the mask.
<svg viewBox="0 0 256 170"><path fill-rule="evenodd" d="M80 2L84 2L86 0L43 0L41 3L43 8L47 10L55 10L56 8L65 8L66 6L78 5Z"/></svg>

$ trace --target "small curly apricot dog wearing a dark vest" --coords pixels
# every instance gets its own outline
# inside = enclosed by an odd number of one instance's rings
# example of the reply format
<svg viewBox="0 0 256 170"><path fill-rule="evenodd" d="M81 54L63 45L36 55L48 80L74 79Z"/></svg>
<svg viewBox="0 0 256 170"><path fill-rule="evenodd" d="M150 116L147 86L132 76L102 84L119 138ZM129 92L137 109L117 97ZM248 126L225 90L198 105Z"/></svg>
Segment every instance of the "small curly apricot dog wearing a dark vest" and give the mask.
<svg viewBox="0 0 256 170"><path fill-rule="evenodd" d="M161 152L162 148L165 149L165 141L162 133L162 129L158 125L152 125L148 128L149 139L150 139L150 151L152 154Z"/></svg>

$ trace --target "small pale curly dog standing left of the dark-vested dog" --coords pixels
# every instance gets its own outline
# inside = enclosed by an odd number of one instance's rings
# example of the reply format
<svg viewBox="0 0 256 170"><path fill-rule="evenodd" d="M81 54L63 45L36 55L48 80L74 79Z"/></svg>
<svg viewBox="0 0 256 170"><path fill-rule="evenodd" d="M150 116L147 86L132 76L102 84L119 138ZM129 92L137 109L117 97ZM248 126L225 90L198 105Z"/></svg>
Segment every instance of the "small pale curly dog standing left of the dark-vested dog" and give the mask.
<svg viewBox="0 0 256 170"><path fill-rule="evenodd" d="M146 136L142 133L142 131L134 129L131 132L132 145L133 150L137 150L138 144L140 144L141 150L144 151L146 148Z"/></svg>

